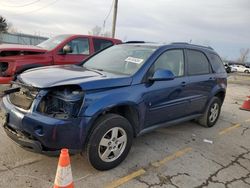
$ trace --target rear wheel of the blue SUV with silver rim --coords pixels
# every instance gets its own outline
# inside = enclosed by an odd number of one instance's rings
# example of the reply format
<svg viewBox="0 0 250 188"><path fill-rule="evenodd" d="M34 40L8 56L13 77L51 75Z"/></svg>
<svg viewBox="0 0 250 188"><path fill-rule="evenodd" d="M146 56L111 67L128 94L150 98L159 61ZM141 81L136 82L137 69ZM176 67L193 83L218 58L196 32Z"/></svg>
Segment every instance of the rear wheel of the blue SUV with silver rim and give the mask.
<svg viewBox="0 0 250 188"><path fill-rule="evenodd" d="M220 116L221 105L221 100L218 97L213 97L205 113L198 120L199 124L204 127L213 127Z"/></svg>

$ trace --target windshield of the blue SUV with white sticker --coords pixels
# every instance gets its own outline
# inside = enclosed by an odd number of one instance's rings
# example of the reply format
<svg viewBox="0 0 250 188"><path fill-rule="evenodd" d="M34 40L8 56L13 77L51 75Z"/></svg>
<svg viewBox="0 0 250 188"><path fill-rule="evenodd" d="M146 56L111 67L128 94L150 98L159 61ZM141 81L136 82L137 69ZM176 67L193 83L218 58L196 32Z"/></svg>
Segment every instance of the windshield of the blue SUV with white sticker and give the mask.
<svg viewBox="0 0 250 188"><path fill-rule="evenodd" d="M155 46L115 45L86 61L83 66L117 74L134 74L156 50Z"/></svg>

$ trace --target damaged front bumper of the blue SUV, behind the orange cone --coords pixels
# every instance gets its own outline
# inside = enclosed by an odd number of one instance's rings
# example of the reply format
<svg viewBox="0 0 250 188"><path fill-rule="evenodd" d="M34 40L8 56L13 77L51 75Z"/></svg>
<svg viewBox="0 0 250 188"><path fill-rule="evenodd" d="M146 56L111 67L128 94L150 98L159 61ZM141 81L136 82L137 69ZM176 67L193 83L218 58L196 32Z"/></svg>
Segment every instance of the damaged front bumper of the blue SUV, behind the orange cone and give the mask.
<svg viewBox="0 0 250 188"><path fill-rule="evenodd" d="M58 155L61 148L68 148L72 154L84 148L89 117L61 120L32 109L24 111L14 106L8 95L2 99L1 111L6 134L26 150Z"/></svg>

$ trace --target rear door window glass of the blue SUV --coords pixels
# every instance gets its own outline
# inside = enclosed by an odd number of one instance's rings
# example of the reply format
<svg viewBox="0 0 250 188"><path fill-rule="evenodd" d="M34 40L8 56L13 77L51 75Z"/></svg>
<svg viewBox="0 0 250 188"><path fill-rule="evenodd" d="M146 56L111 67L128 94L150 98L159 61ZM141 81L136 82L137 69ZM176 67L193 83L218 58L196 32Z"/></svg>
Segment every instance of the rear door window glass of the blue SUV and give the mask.
<svg viewBox="0 0 250 188"><path fill-rule="evenodd" d="M204 53L197 50L187 50L188 75L202 75L210 73L210 64Z"/></svg>

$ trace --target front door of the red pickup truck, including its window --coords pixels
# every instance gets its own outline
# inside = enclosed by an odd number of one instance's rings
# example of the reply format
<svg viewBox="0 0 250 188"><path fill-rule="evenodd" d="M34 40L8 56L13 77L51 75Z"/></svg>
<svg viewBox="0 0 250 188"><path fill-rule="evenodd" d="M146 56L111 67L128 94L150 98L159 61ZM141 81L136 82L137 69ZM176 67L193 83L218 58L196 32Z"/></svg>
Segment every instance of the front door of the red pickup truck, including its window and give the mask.
<svg viewBox="0 0 250 188"><path fill-rule="evenodd" d="M89 39L79 37L69 41L66 45L70 46L72 52L63 53L63 47L55 54L55 64L78 64L90 55Z"/></svg>

